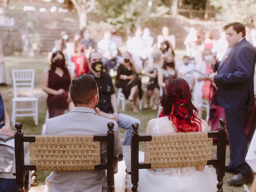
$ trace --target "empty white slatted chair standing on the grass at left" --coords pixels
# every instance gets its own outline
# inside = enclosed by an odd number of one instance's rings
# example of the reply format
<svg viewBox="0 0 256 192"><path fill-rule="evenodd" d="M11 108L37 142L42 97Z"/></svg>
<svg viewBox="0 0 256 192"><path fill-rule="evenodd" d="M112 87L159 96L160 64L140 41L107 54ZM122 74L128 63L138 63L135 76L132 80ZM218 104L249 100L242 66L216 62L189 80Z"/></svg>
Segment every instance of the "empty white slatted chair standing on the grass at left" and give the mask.
<svg viewBox="0 0 256 192"><path fill-rule="evenodd" d="M34 97L34 69L12 69L12 81L14 98L12 98L12 125L16 123L16 117L32 116L38 125L38 98ZM29 96L18 97L18 90L27 90ZM30 107L17 107L18 103L31 102Z"/></svg>

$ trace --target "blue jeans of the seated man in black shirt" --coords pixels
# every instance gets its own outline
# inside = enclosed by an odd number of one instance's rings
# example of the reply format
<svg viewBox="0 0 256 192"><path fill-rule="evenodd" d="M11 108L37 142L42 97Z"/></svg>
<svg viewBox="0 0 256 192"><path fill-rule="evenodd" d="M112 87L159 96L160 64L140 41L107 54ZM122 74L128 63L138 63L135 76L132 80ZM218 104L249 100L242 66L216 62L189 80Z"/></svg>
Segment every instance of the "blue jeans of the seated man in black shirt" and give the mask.
<svg viewBox="0 0 256 192"><path fill-rule="evenodd" d="M131 145L132 124L138 123L139 129L140 129L141 122L137 118L123 114L123 113L119 113L118 118L119 118L119 121L117 122L118 127L127 129L123 145Z"/></svg>

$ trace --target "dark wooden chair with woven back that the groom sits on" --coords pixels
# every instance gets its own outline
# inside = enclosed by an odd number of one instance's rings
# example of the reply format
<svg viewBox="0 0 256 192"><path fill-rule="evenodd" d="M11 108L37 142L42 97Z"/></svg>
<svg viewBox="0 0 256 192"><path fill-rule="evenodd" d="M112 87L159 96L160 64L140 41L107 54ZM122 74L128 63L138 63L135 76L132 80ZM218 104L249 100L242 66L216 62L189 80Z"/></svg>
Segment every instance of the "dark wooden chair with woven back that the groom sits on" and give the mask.
<svg viewBox="0 0 256 192"><path fill-rule="evenodd" d="M113 192L114 173L118 171L118 160L114 157L114 123L108 122L107 126L106 135L32 136L23 135L22 123L16 123L14 175L16 175L18 191L24 192L24 176L29 170L34 170L32 186L38 184L36 170L107 170L108 192ZM24 142L29 142L30 145L30 164L24 164ZM106 163L100 162L100 142L107 142Z"/></svg>

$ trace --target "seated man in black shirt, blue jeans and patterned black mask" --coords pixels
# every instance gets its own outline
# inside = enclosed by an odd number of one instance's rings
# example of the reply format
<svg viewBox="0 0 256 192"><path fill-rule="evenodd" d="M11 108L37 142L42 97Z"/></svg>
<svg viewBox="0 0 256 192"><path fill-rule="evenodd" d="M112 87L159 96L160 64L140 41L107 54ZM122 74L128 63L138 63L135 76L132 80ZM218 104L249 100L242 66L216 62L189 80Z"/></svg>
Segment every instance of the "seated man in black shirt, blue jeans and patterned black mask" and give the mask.
<svg viewBox="0 0 256 192"><path fill-rule="evenodd" d="M100 108L101 116L116 121L119 127L126 129L127 133L123 145L130 145L132 123L138 122L140 124L140 120L126 114L118 113L117 99L112 79L107 72L102 71L102 54L96 51L92 52L89 57L89 65L90 72L88 74L94 76L99 88L100 98L97 106Z"/></svg>

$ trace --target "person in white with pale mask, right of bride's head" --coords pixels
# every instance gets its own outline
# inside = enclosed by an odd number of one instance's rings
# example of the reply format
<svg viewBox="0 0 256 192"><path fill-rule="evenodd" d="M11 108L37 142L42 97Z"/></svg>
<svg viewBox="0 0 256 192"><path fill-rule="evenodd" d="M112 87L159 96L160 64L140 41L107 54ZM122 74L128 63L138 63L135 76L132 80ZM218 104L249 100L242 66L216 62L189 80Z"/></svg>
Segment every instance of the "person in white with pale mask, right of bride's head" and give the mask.
<svg viewBox="0 0 256 192"><path fill-rule="evenodd" d="M194 62L190 60L189 56L183 57L183 64L179 67L179 75L189 84L190 90L194 86L194 76L191 70L195 67Z"/></svg>

